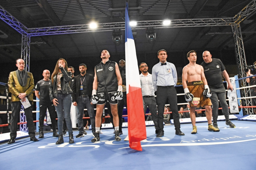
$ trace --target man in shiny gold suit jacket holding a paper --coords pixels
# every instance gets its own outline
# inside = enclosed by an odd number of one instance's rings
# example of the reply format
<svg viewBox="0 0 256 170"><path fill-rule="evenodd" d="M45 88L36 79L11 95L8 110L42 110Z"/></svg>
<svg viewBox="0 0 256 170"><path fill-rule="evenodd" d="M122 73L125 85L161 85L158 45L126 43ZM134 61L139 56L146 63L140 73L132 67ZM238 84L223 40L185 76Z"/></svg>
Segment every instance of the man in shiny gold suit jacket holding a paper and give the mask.
<svg viewBox="0 0 256 170"><path fill-rule="evenodd" d="M17 123L19 121L21 102L28 98L30 103L30 107L24 108L27 125L28 125L28 135L30 136L30 140L38 141L35 137L35 128L32 117L32 102L33 102L33 89L34 78L32 73L27 72L25 68L25 62L22 59L16 60L16 66L18 70L13 71L9 75L8 86L9 91L12 93L11 105L12 105L12 114L11 114L11 128L10 128L10 137L8 144L12 144L15 142L15 138L17 136Z"/></svg>

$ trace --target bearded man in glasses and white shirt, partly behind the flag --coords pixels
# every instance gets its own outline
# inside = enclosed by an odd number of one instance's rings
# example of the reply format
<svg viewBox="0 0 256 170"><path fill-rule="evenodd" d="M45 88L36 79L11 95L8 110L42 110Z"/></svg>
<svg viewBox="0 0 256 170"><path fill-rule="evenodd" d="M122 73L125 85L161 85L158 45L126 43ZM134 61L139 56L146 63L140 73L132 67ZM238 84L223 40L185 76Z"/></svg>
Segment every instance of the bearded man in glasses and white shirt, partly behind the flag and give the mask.
<svg viewBox="0 0 256 170"><path fill-rule="evenodd" d="M141 90L142 96L145 103L145 113L147 107L149 108L152 116L152 120L155 124L156 134L159 133L157 126L157 112L156 112L156 98L154 93L154 87L152 82L152 74L148 73L148 65L144 62L140 63L140 81L142 82Z"/></svg>

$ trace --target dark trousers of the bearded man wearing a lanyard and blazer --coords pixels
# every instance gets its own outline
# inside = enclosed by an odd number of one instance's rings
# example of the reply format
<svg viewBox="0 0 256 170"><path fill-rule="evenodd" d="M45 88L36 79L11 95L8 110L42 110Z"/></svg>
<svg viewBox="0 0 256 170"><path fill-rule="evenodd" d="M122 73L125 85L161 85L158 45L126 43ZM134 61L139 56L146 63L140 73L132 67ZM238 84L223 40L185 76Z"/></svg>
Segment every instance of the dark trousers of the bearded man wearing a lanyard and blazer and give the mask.
<svg viewBox="0 0 256 170"><path fill-rule="evenodd" d="M83 134L83 131L84 131L84 122L83 122L84 106L86 106L86 109L90 116L90 120L91 120L91 124L92 124L92 133L95 133L95 113L94 113L94 107L93 107L93 105L91 105L91 99L89 97L80 97L80 96L78 97L78 101L77 101L78 131L81 134Z"/></svg>

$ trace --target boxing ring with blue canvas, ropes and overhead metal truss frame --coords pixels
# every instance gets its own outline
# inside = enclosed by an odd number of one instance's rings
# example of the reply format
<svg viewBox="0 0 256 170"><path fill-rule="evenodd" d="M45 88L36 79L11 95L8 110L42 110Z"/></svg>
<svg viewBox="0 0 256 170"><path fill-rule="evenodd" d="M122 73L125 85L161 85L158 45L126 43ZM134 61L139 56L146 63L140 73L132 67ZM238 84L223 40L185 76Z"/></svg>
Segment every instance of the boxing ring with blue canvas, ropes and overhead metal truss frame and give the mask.
<svg viewBox="0 0 256 170"><path fill-rule="evenodd" d="M232 27L235 40L236 59L238 63L239 77L244 77L243 70L246 66L244 45L240 22L255 12L255 0L248 4L234 18L212 18L212 19L184 19L173 20L170 27L189 26L226 26ZM15 30L22 34L22 58L26 62L26 70L29 71L30 58L30 37L39 35L53 35L76 32L89 32L86 25L72 25L52 28L31 28L28 29L16 20L11 14L0 6L0 18ZM5 17L5 18L4 18ZM3 19L4 18L4 19ZM156 28L164 28L160 21L143 21L137 28L143 29L148 25ZM122 23L105 23L101 31L109 31L113 28L122 29ZM141 25L144 25L141 26ZM139 28L140 27L140 28ZM256 75L254 75L256 76ZM252 76L250 76L252 77ZM248 89L254 86L245 86L246 77L240 79L243 82L236 90L242 90L241 97L237 91L237 100L245 99L245 104L238 101L240 108L255 108L252 106ZM236 78L238 80L238 78ZM238 82L238 81L236 81ZM0 83L5 85L5 83ZM177 86L179 87L179 86ZM8 94L8 93L7 93ZM184 94L177 94L182 96ZM8 103L8 96L5 98ZM38 102L38 100L34 100ZM178 103L185 105L187 103ZM8 105L7 105L8 106ZM167 104L168 106L168 104ZM221 109L221 108L220 108ZM251 109L252 110L252 109ZM39 110L33 111L38 114ZM179 111L186 112L186 111ZM0 114L11 114L8 111L1 111ZM24 112L21 111L21 122L26 124ZM171 114L172 112L166 112ZM244 114L246 113L246 114ZM52 137L52 133L44 134L39 142L30 141L29 138L16 140L14 144L0 145L1 169L255 169L255 146L256 146L256 115L250 110L241 110L232 118L236 128L229 128L224 121L218 121L220 132L208 131L208 124L204 121L197 121L197 134L191 134L192 125L189 122L181 124L181 131L185 136L175 135L174 126L164 126L164 136L156 138L155 128L147 126L147 139L141 141L143 151L135 151L129 148L127 141L115 141L112 130L103 129L100 141L91 143L92 133L88 132L83 138L75 138L74 144L67 142L56 145L58 138ZM23 116L22 116L23 115ZM149 115L149 114L146 114ZM127 117L124 115L123 117ZM89 117L85 117L89 118ZM180 121L182 121L180 119ZM38 122L38 120L34 121ZM8 126L2 124L0 127ZM25 127L25 129L24 129ZM24 126L22 130L27 130ZM74 131L74 136L78 131ZM122 139L128 134L123 129ZM63 136L68 141L68 135ZM38 138L38 136L36 136ZM252 149L253 148L253 149ZM24 159L26 158L26 159ZM79 161L79 160L84 161Z"/></svg>

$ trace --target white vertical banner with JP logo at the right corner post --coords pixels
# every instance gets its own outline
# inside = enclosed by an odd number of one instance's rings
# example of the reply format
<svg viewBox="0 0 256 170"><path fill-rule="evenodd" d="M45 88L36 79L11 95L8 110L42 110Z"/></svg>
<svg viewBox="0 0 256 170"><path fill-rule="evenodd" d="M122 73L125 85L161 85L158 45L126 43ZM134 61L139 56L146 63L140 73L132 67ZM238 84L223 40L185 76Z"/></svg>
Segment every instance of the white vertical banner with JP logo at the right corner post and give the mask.
<svg viewBox="0 0 256 170"><path fill-rule="evenodd" d="M229 80L233 86L233 90L228 90L228 101L230 107L230 113L239 113L239 108L237 104L237 97L236 97L236 83L235 77L229 77ZM228 83L227 83L228 86Z"/></svg>

